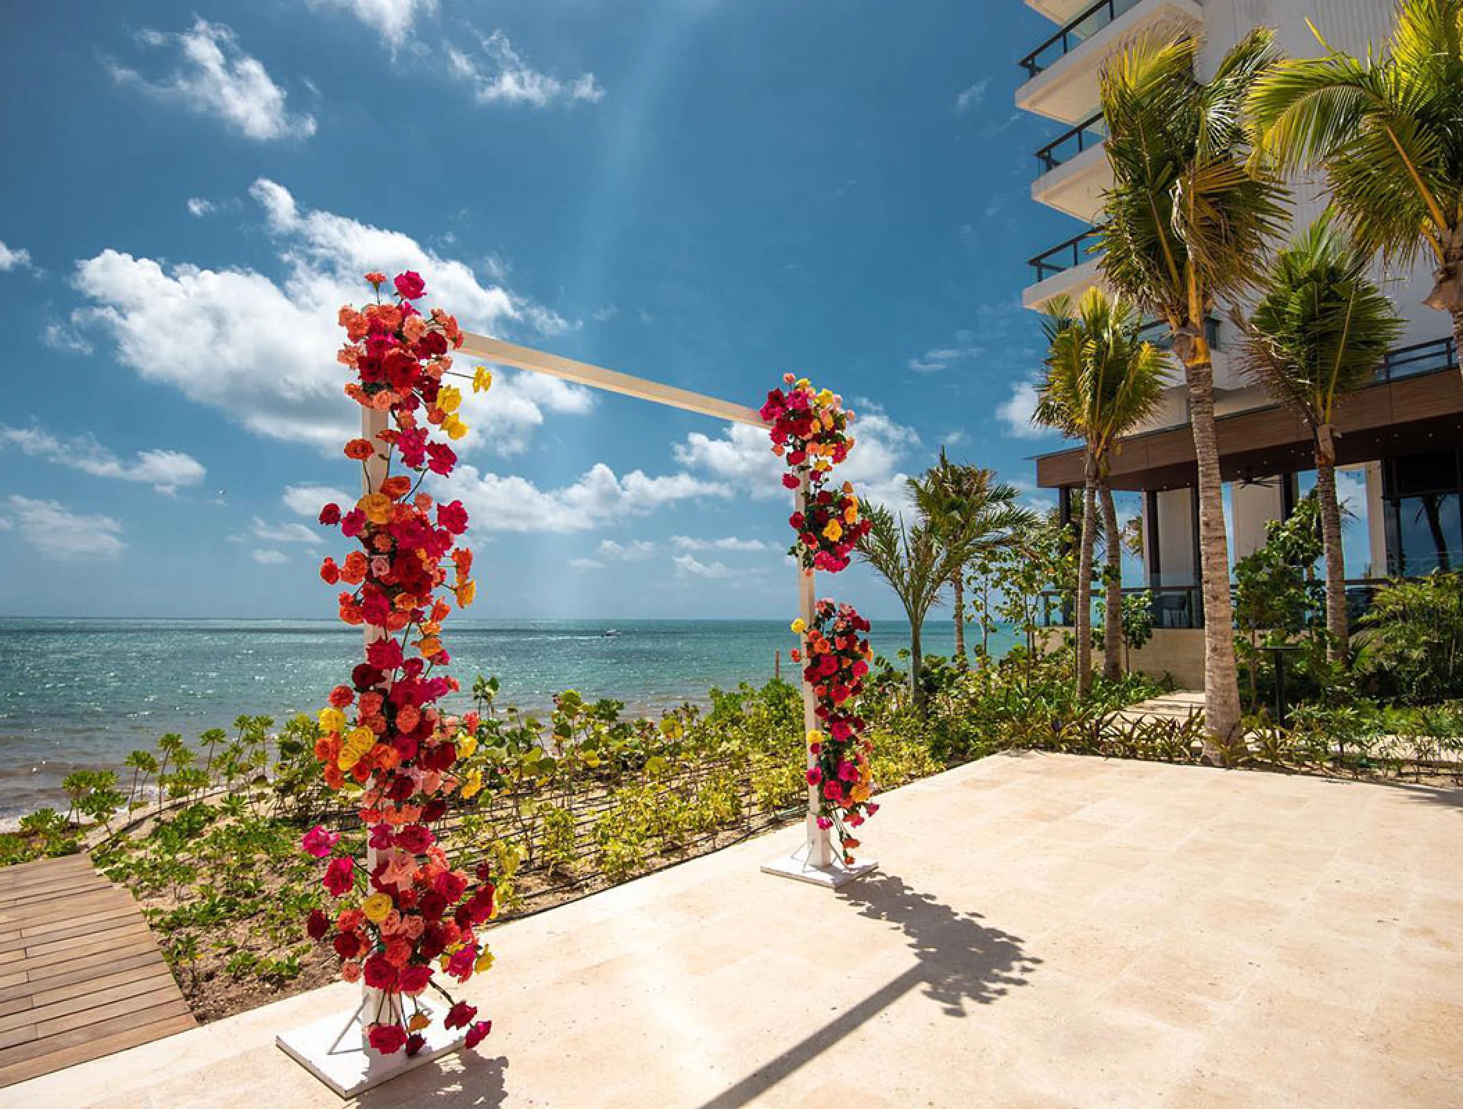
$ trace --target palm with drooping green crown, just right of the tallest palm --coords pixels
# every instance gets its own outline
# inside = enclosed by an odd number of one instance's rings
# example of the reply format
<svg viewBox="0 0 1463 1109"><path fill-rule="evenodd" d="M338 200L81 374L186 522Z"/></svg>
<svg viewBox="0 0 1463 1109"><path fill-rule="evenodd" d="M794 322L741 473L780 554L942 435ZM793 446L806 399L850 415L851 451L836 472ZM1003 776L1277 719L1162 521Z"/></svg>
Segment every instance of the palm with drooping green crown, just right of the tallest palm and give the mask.
<svg viewBox="0 0 1463 1109"><path fill-rule="evenodd" d="M1325 550L1327 657L1346 657L1346 566L1336 499L1336 405L1375 380L1403 320L1368 277L1371 255L1323 215L1271 262L1246 320L1242 372L1305 420Z"/></svg>

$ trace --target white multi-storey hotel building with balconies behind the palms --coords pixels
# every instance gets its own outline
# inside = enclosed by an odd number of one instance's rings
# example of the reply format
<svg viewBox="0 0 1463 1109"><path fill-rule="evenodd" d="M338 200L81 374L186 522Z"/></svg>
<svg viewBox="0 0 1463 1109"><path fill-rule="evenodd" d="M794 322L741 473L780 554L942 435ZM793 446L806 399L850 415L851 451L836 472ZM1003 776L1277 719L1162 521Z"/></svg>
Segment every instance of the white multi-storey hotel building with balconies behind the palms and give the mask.
<svg viewBox="0 0 1463 1109"><path fill-rule="evenodd" d="M1201 41L1198 76L1254 26L1273 26L1290 56L1320 53L1306 19L1334 47L1353 54L1378 47L1391 29L1390 0L1027 0L1055 25L1021 61L1018 108L1053 121L1050 142L1036 151L1031 199L1080 221L1075 233L1030 260L1023 303L1042 310L1058 294L1078 297L1102 284L1093 224L1100 218L1112 171L1103 149L1097 97L1103 66L1140 35L1192 35ZM1324 208L1320 180L1293 184L1293 225ZM1347 578L1358 604L1368 581L1463 566L1463 383L1448 317L1422 304L1429 269L1378 271L1383 288L1407 320L1399 348L1378 367L1375 385L1349 396L1339 416L1337 461L1353 490L1347 503L1352 540ZM1154 341L1166 337L1154 326ZM1210 320L1216 414L1230 559L1264 543L1265 524L1282 519L1314 480L1311 439L1304 424L1239 377L1236 334L1227 319ZM1143 578L1154 593L1160 629L1198 628L1198 499L1194 442L1182 370L1175 367L1159 414L1128 436L1113 461L1115 490L1138 500L1143 519ZM1080 493L1080 449L1036 459L1037 484L1059 492L1064 505Z"/></svg>

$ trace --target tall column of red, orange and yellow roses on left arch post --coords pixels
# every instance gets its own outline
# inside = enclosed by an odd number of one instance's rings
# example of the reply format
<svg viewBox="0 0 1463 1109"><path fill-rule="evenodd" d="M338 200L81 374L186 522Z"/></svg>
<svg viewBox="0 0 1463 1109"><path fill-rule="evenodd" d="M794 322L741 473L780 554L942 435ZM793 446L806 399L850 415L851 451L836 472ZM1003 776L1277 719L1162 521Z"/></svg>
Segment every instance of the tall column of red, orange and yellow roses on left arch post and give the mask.
<svg viewBox="0 0 1463 1109"><path fill-rule="evenodd" d="M341 309L348 342L339 361L356 372L345 392L386 413L388 427L375 440L345 445L345 455L376 480L348 509L331 503L320 511L322 524L358 544L341 563L325 559L320 576L351 587L339 594L339 614L367 629L369 645L350 683L336 686L320 711L315 755L325 783L354 794L370 850L369 863L358 866L336 854L338 834L319 827L306 834L304 850L329 859L322 881L341 903L334 917L312 911L307 932L334 947L342 977L408 999L435 986L439 970L467 982L493 958L477 935L496 911L492 873L483 865L470 879L432 831L454 793L471 797L481 789L480 772L462 772L477 746L475 714L458 720L436 707L458 689L436 672L449 661L440 632L451 612L437 594L465 607L475 590L473 552L458 546L467 511L420 490L427 473L448 475L456 464L435 433L459 439L467 432L456 416L461 394L442 383L452 364L448 351L461 345L462 332L440 309L423 316L413 306L426 291L417 274L398 275L396 297L386 301L386 278L366 279L377 303ZM373 458L385 461L385 477L367 465ZM391 473L394 461L404 473ZM401 1020L391 1020L398 1011ZM468 1029L473 1046L489 1030L475 1017L471 1005L456 1002L445 1023ZM420 1007L383 1005L366 1018L379 1052L415 1053L426 1043L429 1018Z"/></svg>

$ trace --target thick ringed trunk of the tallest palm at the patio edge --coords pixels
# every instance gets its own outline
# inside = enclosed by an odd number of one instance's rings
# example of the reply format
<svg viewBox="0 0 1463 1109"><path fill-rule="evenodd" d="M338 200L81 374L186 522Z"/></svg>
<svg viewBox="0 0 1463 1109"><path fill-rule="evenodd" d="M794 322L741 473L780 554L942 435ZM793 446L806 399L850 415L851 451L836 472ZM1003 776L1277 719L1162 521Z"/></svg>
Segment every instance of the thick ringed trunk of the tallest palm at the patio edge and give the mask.
<svg viewBox="0 0 1463 1109"><path fill-rule="evenodd" d="M1181 344L1179 339L1188 342ZM1239 672L1235 664L1235 613L1229 597L1229 541L1225 538L1225 495L1214 427L1214 367L1203 331L1175 335L1188 348L1188 382L1194 456L1198 461L1198 553L1204 597L1204 756L1229 765L1239 748Z"/></svg>

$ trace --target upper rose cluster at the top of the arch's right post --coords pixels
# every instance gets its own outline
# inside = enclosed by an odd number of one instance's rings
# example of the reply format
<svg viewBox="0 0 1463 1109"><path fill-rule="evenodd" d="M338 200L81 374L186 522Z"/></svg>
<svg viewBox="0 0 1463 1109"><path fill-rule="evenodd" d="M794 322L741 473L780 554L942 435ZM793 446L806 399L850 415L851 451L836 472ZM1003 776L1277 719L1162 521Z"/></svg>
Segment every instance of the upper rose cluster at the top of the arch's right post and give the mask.
<svg viewBox="0 0 1463 1109"><path fill-rule="evenodd" d="M758 414L772 426L772 454L787 462L783 484L797 489L808 478L806 505L789 519L797 540L787 553L805 569L837 574L849 566L854 546L869 530L869 522L859 518L853 486L824 487L832 468L853 449L849 435L853 411L843 407L837 394L815 391L806 377L787 373L783 385L789 388L767 394Z"/></svg>

